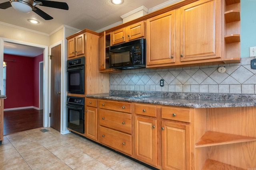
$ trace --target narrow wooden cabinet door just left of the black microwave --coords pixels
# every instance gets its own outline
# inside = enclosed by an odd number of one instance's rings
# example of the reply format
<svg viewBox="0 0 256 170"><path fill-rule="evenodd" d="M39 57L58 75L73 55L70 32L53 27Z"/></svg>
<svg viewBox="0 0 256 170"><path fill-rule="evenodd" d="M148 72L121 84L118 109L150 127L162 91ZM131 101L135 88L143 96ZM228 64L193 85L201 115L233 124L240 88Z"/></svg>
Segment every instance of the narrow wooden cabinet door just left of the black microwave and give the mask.
<svg viewBox="0 0 256 170"><path fill-rule="evenodd" d="M100 33L99 35L99 70L106 68L106 32Z"/></svg>

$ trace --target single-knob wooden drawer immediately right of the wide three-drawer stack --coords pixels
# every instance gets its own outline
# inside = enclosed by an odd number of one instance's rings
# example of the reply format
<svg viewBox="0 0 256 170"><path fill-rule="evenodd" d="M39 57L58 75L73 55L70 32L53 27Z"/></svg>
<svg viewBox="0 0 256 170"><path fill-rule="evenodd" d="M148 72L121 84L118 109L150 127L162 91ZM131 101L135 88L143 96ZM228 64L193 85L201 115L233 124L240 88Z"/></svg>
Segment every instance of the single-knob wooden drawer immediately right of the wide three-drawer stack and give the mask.
<svg viewBox="0 0 256 170"><path fill-rule="evenodd" d="M156 117L156 106L135 104L135 113L139 115Z"/></svg>

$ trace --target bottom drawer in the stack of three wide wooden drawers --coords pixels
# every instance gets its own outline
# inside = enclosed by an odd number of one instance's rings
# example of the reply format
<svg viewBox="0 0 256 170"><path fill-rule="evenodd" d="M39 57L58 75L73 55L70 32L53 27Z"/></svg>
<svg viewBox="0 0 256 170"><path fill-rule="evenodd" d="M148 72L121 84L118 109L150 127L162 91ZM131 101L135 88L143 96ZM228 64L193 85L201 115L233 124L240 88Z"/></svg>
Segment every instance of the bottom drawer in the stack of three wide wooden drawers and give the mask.
<svg viewBox="0 0 256 170"><path fill-rule="evenodd" d="M99 128L99 142L132 155L132 136L106 127Z"/></svg>

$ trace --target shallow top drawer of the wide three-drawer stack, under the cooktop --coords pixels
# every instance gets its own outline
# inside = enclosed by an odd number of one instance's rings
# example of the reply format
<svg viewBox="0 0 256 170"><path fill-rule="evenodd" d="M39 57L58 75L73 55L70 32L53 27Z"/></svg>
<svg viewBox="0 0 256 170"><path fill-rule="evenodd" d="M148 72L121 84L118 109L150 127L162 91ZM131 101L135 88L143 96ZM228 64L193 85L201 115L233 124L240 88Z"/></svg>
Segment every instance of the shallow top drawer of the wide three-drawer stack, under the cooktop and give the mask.
<svg viewBox="0 0 256 170"><path fill-rule="evenodd" d="M125 102L114 102L111 100L99 100L99 108L109 109L114 111L122 111L132 113L132 106L130 103Z"/></svg>

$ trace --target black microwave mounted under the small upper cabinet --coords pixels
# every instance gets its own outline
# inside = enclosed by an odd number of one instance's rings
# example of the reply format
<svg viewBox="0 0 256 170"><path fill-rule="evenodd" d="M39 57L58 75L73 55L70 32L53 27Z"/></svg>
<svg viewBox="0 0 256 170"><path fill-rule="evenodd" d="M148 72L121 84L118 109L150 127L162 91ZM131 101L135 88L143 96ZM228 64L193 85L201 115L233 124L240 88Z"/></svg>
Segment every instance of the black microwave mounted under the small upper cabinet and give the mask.
<svg viewBox="0 0 256 170"><path fill-rule="evenodd" d="M109 47L109 67L134 69L146 67L146 39L136 39Z"/></svg>

